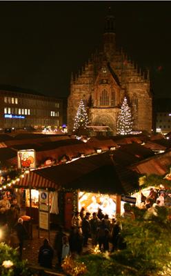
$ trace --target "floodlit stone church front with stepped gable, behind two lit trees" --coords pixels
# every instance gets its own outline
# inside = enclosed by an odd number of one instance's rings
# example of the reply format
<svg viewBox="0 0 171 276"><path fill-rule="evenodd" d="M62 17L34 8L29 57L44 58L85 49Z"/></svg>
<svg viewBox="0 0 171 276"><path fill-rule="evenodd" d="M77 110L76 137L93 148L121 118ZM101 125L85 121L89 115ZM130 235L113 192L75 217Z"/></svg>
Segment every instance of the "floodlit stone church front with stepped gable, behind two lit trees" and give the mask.
<svg viewBox="0 0 171 276"><path fill-rule="evenodd" d="M152 130L152 93L149 73L141 74L134 63L118 50L114 17L105 18L103 46L92 55L77 77L70 82L68 97L68 130L73 130L74 117L83 99L91 126L108 126L117 132L117 116L123 97L132 109L134 130Z"/></svg>

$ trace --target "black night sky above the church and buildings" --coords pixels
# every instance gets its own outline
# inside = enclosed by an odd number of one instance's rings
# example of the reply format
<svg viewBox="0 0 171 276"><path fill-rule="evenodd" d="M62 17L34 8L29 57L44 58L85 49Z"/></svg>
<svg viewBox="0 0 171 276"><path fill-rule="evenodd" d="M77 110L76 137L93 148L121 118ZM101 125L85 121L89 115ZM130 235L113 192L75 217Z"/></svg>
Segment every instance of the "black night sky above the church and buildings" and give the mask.
<svg viewBox="0 0 171 276"><path fill-rule="evenodd" d="M0 83L65 97L102 39L108 7L117 45L171 97L170 1L0 1Z"/></svg>

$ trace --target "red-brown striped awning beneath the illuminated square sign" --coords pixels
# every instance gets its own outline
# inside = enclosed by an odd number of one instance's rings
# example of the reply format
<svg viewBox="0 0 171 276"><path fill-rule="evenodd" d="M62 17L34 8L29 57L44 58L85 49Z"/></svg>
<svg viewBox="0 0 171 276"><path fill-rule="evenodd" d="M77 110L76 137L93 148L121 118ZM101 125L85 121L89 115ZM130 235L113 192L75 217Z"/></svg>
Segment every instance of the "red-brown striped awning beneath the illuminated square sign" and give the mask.
<svg viewBox="0 0 171 276"><path fill-rule="evenodd" d="M20 177L19 181L17 181L16 186L21 188L29 188L29 184L31 188L43 188L43 189L55 189L57 190L59 186L55 184L54 182L50 181L49 179L46 179L44 177L41 177L39 173L37 173L38 170L30 171L29 174L25 174L24 177Z"/></svg>

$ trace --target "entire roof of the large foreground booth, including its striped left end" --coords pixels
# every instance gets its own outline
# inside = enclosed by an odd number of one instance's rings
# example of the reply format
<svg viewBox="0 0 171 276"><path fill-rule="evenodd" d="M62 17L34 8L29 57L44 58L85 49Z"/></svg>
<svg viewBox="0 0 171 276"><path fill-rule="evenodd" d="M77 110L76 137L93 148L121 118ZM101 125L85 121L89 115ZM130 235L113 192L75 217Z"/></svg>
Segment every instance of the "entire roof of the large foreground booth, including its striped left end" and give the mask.
<svg viewBox="0 0 171 276"><path fill-rule="evenodd" d="M80 158L68 164L34 170L30 173L30 180L32 187L37 188L71 188L121 194L137 188L137 173L130 170L127 172L129 173L126 177L122 176L120 179L111 156L104 153ZM128 179L129 174L132 176L131 181ZM28 175L21 178L17 185L28 186Z"/></svg>

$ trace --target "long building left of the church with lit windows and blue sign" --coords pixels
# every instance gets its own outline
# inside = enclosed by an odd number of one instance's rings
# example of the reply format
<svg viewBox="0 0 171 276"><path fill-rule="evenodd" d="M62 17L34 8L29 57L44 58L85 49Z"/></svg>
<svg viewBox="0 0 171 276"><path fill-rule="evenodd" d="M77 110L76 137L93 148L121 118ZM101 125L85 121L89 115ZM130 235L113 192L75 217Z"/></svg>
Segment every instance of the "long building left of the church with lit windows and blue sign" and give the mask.
<svg viewBox="0 0 171 276"><path fill-rule="evenodd" d="M63 124L63 101L38 92L0 86L0 128L59 127Z"/></svg>

